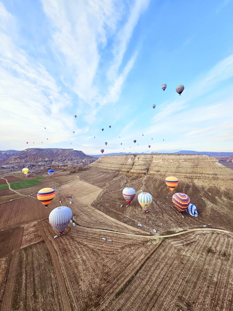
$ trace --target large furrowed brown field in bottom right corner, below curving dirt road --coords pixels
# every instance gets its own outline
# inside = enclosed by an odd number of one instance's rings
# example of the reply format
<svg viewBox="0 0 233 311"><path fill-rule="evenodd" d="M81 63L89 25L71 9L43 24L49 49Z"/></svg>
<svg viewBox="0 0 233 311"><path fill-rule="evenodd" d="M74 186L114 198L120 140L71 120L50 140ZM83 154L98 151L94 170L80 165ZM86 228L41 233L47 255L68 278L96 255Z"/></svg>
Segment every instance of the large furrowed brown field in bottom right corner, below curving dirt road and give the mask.
<svg viewBox="0 0 233 311"><path fill-rule="evenodd" d="M233 239L219 233L165 240L104 310L230 311L232 247Z"/></svg>

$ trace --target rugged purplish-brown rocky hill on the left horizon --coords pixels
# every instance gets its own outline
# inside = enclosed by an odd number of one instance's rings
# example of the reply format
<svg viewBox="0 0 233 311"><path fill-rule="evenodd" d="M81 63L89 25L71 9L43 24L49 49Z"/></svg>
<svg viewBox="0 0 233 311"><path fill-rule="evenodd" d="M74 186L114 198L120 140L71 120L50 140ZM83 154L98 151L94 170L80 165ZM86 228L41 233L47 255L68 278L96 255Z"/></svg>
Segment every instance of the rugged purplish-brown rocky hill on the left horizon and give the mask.
<svg viewBox="0 0 233 311"><path fill-rule="evenodd" d="M3 165L14 167L34 165L80 165L96 159L82 151L60 148L28 148L4 161Z"/></svg>

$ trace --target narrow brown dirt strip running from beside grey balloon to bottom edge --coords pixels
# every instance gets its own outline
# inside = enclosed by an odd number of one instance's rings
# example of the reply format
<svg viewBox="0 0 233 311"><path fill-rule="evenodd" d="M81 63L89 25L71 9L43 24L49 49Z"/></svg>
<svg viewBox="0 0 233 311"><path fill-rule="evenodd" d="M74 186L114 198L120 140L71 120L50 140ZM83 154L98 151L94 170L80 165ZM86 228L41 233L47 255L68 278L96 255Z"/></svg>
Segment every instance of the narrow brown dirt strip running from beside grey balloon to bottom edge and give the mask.
<svg viewBox="0 0 233 311"><path fill-rule="evenodd" d="M59 292L60 292L60 298L62 301L63 309L64 309L64 311L66 311L66 310L68 310L67 308L71 309L71 304L70 304L70 299L69 299L67 290L64 290L64 289L66 289L66 283L65 283L63 275L62 275L62 270L60 269L61 265L60 265L60 262L57 258L57 253L56 253L55 249L53 248L52 243L50 242L50 240L48 239L48 237L44 231L45 228L44 228L43 222L41 220L39 220L37 222L37 224L38 224L39 232L40 232L40 234L41 234L41 236L42 236L42 238L43 238L43 240L44 240L44 242L48 248L48 251L51 254L51 257L53 259L53 266L54 266L54 270L56 272L57 284L58 284L58 288L59 288ZM61 287L63 287L63 289Z"/></svg>

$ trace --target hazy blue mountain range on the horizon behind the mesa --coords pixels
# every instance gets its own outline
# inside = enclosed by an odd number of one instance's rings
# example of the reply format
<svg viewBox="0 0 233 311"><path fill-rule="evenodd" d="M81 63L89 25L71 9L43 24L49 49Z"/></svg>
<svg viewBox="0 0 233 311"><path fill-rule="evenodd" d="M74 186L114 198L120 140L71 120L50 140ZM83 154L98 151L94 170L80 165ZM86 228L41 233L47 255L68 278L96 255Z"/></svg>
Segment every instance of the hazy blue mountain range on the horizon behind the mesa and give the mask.
<svg viewBox="0 0 233 311"><path fill-rule="evenodd" d="M165 151L165 152L164 152ZM170 151L170 152L169 152ZM130 155L130 154L148 154L148 153L177 153L177 154L194 154L194 155L206 155L206 156L213 156L213 157L222 157L222 156L233 156L233 152L212 152L212 151L191 151L191 150L180 150L176 152L172 152L171 150L162 150L162 151L151 151L151 152L113 152L113 153L105 153L100 155L91 155L93 157L100 157L100 156L117 156L117 155Z"/></svg>

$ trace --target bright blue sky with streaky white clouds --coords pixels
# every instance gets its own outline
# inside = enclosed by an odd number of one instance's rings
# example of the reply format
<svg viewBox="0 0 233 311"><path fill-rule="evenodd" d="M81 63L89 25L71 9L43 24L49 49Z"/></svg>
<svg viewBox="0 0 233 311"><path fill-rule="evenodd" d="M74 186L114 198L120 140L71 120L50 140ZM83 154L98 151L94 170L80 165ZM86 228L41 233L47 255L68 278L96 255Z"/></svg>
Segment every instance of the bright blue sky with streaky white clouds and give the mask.
<svg viewBox="0 0 233 311"><path fill-rule="evenodd" d="M0 149L233 151L232 12L231 0L0 0Z"/></svg>

